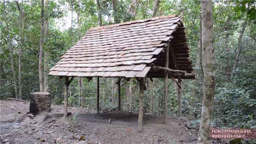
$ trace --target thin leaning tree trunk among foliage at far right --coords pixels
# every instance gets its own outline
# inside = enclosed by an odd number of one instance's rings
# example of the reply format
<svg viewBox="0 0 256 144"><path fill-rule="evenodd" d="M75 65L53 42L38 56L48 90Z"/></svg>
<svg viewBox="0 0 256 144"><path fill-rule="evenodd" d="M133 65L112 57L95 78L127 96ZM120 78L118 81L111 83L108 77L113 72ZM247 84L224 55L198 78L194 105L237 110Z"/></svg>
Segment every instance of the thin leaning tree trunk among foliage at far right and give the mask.
<svg viewBox="0 0 256 144"><path fill-rule="evenodd" d="M233 76L234 76L234 72L235 72L236 67L237 67L237 63L238 63L238 60L239 60L240 52L241 52L241 50L243 48L242 36L244 35L244 30L246 28L246 24L247 23L245 21L242 23L242 30L241 30L241 32L239 34L239 37L238 37L239 48L238 48L237 53L236 53L236 59L235 59L234 66L232 68L231 78L233 78Z"/></svg>

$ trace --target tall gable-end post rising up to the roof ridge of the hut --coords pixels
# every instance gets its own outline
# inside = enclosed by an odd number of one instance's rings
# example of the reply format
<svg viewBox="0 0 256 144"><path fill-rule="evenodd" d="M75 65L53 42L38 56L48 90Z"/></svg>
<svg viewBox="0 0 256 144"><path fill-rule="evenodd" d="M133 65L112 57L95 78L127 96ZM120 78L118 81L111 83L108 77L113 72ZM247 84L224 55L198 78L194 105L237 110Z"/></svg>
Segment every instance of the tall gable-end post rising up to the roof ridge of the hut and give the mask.
<svg viewBox="0 0 256 144"><path fill-rule="evenodd" d="M165 67L169 67L169 46L170 42L168 42L168 46L166 48L166 56L165 56ZM168 97L168 71L164 71L164 124L167 122L167 97Z"/></svg>

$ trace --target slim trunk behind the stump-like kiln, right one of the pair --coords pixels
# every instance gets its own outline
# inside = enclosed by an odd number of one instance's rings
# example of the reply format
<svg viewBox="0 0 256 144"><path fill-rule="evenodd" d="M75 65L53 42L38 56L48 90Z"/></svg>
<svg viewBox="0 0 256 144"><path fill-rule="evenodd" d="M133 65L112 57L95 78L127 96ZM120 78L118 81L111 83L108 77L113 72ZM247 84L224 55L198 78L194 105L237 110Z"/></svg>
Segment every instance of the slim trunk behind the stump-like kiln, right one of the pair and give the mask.
<svg viewBox="0 0 256 144"><path fill-rule="evenodd" d="M48 0L45 0L45 31L44 31L44 40L48 38L48 20L49 20L49 11L48 11ZM44 48L44 92L48 91L48 50L47 42L45 43Z"/></svg>

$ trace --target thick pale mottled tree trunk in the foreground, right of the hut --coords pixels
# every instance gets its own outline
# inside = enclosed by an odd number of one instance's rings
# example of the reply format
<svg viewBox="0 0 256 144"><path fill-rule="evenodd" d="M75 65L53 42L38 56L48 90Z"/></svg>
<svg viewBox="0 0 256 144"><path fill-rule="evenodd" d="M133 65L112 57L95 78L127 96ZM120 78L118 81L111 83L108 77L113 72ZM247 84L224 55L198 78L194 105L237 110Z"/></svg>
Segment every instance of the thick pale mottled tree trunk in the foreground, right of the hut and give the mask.
<svg viewBox="0 0 256 144"><path fill-rule="evenodd" d="M214 103L214 47L212 1L202 0L202 48L204 49L204 98L198 144L209 144L212 106Z"/></svg>

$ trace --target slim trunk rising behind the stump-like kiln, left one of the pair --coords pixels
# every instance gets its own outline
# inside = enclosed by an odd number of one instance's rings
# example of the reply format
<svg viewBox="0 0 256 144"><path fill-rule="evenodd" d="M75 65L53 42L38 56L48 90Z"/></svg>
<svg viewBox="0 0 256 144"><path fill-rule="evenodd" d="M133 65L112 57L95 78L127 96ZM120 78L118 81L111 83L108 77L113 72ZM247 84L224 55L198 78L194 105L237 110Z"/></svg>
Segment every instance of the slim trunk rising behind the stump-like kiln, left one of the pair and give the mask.
<svg viewBox="0 0 256 144"><path fill-rule="evenodd" d="M44 0L41 0L41 38L40 38L40 50L39 50L39 89L40 92L44 91L43 88L43 79L42 79L42 52L43 52L43 44L44 44Z"/></svg>

